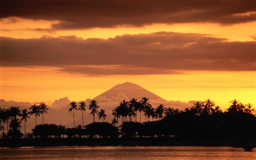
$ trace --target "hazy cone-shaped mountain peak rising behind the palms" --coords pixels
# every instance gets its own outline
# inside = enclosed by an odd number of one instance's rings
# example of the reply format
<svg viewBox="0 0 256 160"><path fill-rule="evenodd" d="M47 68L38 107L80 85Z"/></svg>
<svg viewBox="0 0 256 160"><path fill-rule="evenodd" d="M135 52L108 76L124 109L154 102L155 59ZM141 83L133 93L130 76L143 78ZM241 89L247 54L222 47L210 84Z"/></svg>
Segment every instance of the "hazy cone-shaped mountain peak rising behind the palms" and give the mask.
<svg viewBox="0 0 256 160"><path fill-rule="evenodd" d="M136 98L141 99L141 97L147 97L150 100L158 100L162 99L160 96L157 96L156 94L146 90L145 88L140 87L137 84L133 84L130 82L125 82L123 84L117 84L113 88L110 88L106 92L103 92L99 96L95 97L101 97L105 96L106 98L116 97L119 93L123 93L125 96L127 96L129 99Z"/></svg>

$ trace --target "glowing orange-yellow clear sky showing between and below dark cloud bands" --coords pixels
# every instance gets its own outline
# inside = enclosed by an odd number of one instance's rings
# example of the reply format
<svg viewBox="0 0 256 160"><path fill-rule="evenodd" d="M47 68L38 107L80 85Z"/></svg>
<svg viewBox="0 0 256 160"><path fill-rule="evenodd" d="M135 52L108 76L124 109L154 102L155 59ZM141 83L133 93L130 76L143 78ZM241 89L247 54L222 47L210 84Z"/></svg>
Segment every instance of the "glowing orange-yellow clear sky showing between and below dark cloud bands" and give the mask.
<svg viewBox="0 0 256 160"><path fill-rule="evenodd" d="M254 12L252 12L254 13ZM250 13L251 14L251 13ZM256 21L235 24L216 22L151 23L139 26L72 28L44 31L61 20L37 20L18 16L0 19L0 36L13 39L39 39L41 37L76 36L88 38L114 38L124 34L136 35L153 32L197 33L224 42L255 42ZM41 28L39 30L38 28ZM9 48L11 50L11 48ZM0 52L3 54L5 49ZM103 50L104 52L104 50ZM208 51L206 51L208 52ZM31 53L32 54L32 53ZM255 53L254 53L255 54ZM243 54L241 54L243 57ZM97 57L100 59L100 57ZM252 57L251 64L255 65ZM1 63L2 64L2 63ZM0 99L53 102L61 97L70 100L93 98L116 84L136 83L166 100L205 100L210 98L222 108L238 99L256 105L256 71L253 69L175 69L181 74L87 75L57 71L62 67L50 65L4 64L0 66ZM159 69L159 68L157 68ZM161 69L159 69L160 71Z"/></svg>

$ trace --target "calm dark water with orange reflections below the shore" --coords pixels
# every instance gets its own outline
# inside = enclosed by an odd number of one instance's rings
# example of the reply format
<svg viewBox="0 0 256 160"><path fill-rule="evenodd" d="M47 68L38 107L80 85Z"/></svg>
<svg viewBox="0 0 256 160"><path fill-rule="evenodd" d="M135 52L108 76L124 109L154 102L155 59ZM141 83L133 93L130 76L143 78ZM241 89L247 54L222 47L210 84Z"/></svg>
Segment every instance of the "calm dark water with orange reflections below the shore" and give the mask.
<svg viewBox="0 0 256 160"><path fill-rule="evenodd" d="M256 150L230 147L0 148L0 160L256 160Z"/></svg>

